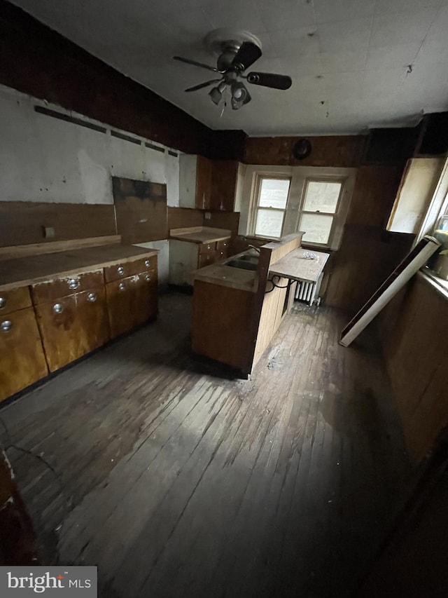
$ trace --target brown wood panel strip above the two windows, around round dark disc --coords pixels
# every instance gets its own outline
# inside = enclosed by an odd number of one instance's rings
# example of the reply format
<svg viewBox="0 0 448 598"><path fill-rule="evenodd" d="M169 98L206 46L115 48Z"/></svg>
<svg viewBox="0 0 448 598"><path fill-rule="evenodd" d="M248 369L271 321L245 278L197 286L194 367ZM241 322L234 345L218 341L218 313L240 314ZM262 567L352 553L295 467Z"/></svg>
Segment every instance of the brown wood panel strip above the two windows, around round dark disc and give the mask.
<svg viewBox="0 0 448 598"><path fill-rule="evenodd" d="M293 145L300 137L248 137L244 151L246 164L356 167L363 155L363 135L307 137L311 154L304 160L293 156Z"/></svg>

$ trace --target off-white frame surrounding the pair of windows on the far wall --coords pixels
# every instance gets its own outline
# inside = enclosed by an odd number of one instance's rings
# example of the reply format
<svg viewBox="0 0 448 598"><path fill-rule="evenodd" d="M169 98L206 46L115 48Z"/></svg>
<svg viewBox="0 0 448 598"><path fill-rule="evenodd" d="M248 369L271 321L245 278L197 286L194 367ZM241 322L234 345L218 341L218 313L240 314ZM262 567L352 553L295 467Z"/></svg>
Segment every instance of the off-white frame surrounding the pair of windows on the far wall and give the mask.
<svg viewBox="0 0 448 598"><path fill-rule="evenodd" d="M339 195L337 212L335 212L335 214L331 214L333 217L333 222L328 243L307 243L306 238L304 238L302 242L302 245L305 247L316 247L316 249L327 250L339 249L355 184L356 168L247 165L242 194L243 201L241 201L241 205L239 206L241 212L239 234L242 236L256 237L255 217L256 211L258 210L259 181L262 178L290 178L286 212L283 215L283 227L281 231L282 237L290 233L295 233L299 230L298 226L300 224L302 206L304 205L304 190L308 180L317 180L321 182L341 182L342 189ZM246 201L244 201L245 199ZM323 212L318 213L323 214Z"/></svg>

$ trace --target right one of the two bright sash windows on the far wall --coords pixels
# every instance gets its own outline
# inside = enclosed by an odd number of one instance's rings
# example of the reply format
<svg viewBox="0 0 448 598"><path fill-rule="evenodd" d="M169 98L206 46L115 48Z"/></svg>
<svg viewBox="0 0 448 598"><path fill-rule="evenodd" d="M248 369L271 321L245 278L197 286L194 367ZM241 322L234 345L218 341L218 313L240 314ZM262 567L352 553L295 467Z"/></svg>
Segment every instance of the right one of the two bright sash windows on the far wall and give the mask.
<svg viewBox="0 0 448 598"><path fill-rule="evenodd" d="M328 245L341 192L342 182L307 179L298 226L305 243Z"/></svg>

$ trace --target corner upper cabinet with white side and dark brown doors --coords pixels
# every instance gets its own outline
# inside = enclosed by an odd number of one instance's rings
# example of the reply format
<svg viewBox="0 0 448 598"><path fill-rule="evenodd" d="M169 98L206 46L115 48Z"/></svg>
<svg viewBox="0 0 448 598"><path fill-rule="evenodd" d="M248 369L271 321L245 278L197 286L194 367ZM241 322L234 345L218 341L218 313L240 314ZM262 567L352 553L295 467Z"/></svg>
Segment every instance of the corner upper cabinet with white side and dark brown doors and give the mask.
<svg viewBox="0 0 448 598"><path fill-rule="evenodd" d="M241 165L236 160L209 160L204 156L181 154L180 207L233 212L239 168Z"/></svg>

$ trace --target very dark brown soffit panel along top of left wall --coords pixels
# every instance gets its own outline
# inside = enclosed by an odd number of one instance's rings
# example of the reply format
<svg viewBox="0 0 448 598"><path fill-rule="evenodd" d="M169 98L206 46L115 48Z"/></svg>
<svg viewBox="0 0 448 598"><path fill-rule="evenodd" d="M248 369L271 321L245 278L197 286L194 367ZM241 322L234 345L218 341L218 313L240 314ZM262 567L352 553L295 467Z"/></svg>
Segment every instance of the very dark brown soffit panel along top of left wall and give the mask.
<svg viewBox="0 0 448 598"><path fill-rule="evenodd" d="M75 43L0 0L0 83L188 154L210 129Z"/></svg>

